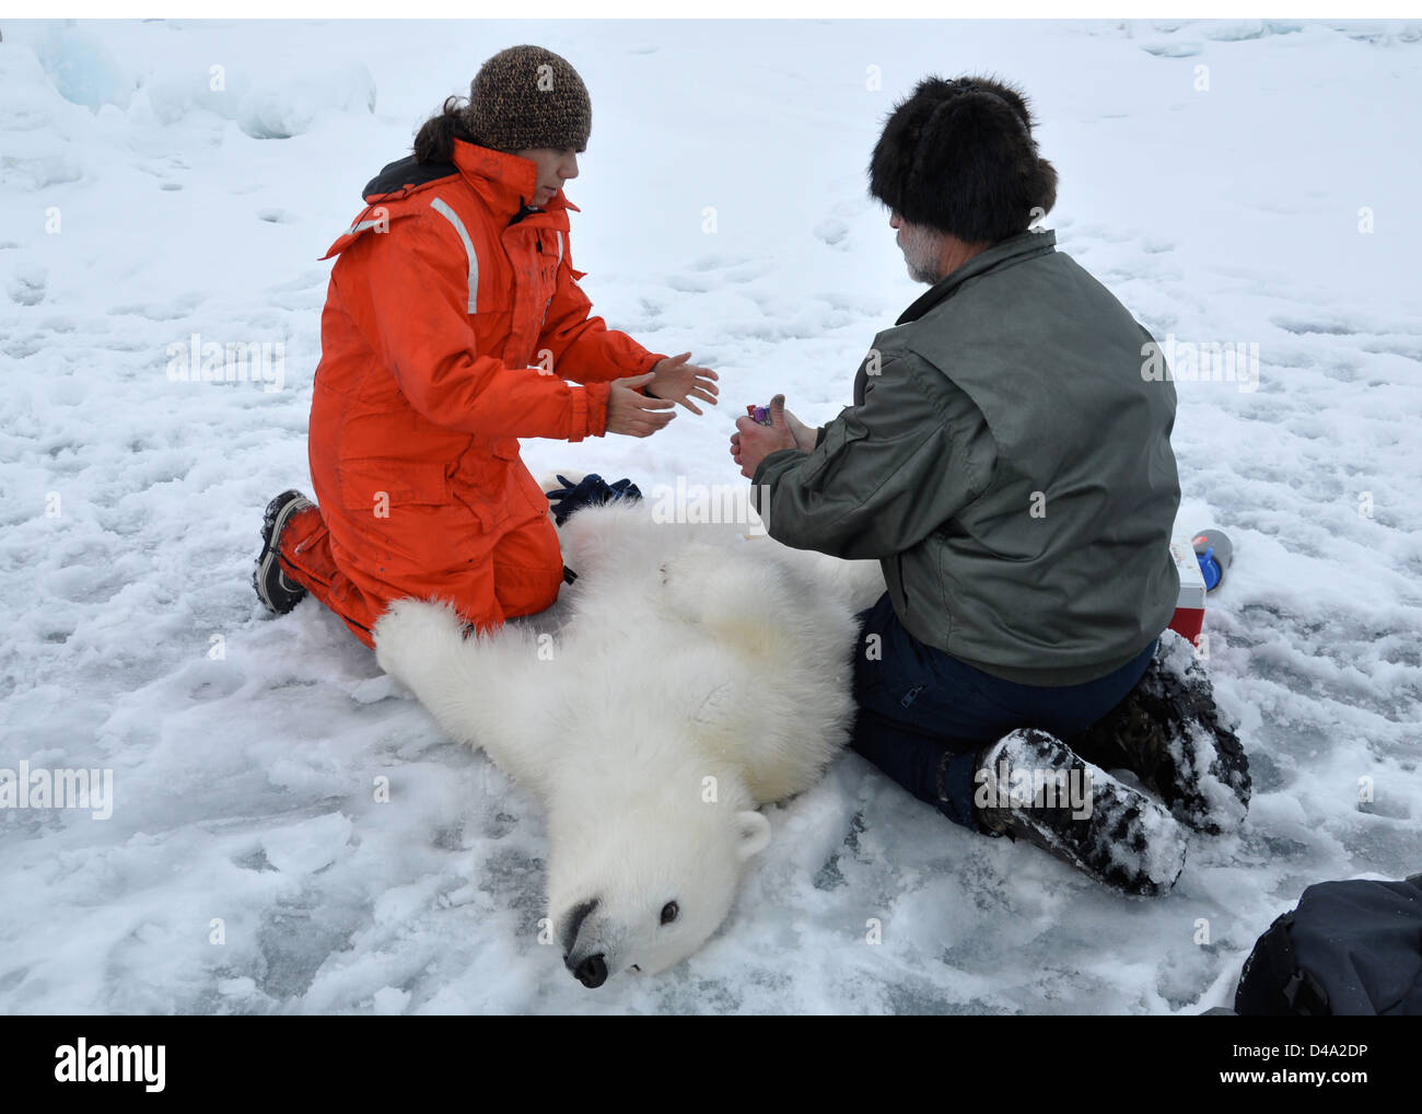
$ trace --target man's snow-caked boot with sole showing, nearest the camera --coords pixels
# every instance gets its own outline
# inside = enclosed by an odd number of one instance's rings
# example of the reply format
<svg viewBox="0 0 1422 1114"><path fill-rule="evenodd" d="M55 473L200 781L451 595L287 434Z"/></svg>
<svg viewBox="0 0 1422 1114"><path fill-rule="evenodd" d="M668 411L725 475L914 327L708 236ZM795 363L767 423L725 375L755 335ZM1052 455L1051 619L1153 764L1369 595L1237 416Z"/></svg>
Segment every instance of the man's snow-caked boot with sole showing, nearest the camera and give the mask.
<svg viewBox="0 0 1422 1114"><path fill-rule="evenodd" d="M987 747L974 774L983 827L1027 839L1130 896L1170 891L1185 869L1185 831L1156 801L1022 727Z"/></svg>

